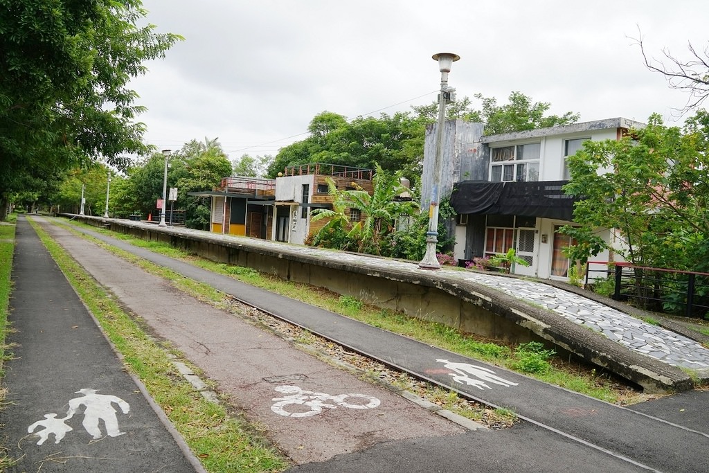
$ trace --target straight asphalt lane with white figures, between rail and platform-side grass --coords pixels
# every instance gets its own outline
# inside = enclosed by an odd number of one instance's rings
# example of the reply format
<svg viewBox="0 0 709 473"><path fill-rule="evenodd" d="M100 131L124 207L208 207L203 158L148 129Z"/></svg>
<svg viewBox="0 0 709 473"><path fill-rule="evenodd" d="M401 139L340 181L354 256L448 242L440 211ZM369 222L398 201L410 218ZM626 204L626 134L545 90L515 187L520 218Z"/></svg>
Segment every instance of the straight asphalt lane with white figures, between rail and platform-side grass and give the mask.
<svg viewBox="0 0 709 473"><path fill-rule="evenodd" d="M135 255L204 282L247 304L300 325L394 367L417 374L491 406L509 408L567 438L658 471L703 472L709 443L705 424L681 425L591 399L506 369L455 355L293 299L243 284L91 230L81 230ZM445 360L445 361L444 361Z"/></svg>

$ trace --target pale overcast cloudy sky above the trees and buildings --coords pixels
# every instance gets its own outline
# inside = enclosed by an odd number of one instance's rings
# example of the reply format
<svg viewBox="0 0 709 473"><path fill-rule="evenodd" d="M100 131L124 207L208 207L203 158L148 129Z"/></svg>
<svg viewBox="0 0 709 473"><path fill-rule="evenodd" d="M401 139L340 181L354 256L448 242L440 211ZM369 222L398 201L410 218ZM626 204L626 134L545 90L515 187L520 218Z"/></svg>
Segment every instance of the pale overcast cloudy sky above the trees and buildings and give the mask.
<svg viewBox="0 0 709 473"><path fill-rule="evenodd" d="M579 121L660 113L688 99L643 63L709 45L706 0L143 0L159 33L185 40L133 79L145 141L178 150L218 138L230 159L276 155L323 111L348 120L431 104L432 55L460 56L449 85L506 104L512 91ZM709 104L707 105L709 106Z"/></svg>

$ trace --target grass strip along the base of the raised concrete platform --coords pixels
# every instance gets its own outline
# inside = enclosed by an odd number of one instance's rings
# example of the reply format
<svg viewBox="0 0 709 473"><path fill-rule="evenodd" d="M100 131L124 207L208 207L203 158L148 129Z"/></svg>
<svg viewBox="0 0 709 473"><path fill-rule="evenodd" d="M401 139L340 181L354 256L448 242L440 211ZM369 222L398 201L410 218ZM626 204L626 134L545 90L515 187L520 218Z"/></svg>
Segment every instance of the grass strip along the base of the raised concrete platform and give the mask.
<svg viewBox="0 0 709 473"><path fill-rule="evenodd" d="M564 362L564 360L559 357L545 357L545 359L542 360L543 363L539 362L539 360L531 360L530 362L530 354L524 350L515 350L515 347L498 343L495 340L481 340L471 335L465 335L455 328L442 323L425 321L420 318L406 316L406 314L403 313L364 304L364 302L352 296L341 296L327 289L286 281L270 274L259 273L251 268L225 265L223 263L206 260L172 247L168 243L148 242L123 233L114 233L109 230L98 229L81 223L72 223L72 225L83 226L84 228L111 235L114 238L119 238L132 245L145 247L160 254L189 262L203 269L234 277L247 284L252 284L253 286L258 286L262 289L267 289L268 291L273 291L291 297L292 299L312 304L313 306L325 308L328 311L340 313L341 315L354 318L384 330L389 330L393 333L415 338L428 345L434 345L445 350L459 353L460 355L473 357L493 365L523 372L531 377L540 379L540 381L556 384L557 386L562 386L596 399L602 399L603 401L611 403L619 401L627 403L632 401L632 399L625 399L623 397L626 396L626 391L618 392L614 389L613 385L615 382L612 379L596 374L594 370L579 369L580 367L578 365L571 365ZM69 226L69 228L70 227L71 226ZM106 245L105 243L102 245L108 250L121 254L123 257L136 262L146 269L150 269L150 267L153 266L145 265L142 258L130 255L128 252L121 252L120 250L116 250L115 247L111 247L111 245ZM163 269L150 270L153 272L157 271L159 274L163 274L165 277L172 279L175 284L186 284L186 281L189 281L179 274L175 273L171 275L170 272L164 272ZM201 294L210 291L208 286L200 285L196 282L192 282L192 284L194 284L194 290ZM216 301L220 297L220 293L215 291L211 297L206 299Z"/></svg>

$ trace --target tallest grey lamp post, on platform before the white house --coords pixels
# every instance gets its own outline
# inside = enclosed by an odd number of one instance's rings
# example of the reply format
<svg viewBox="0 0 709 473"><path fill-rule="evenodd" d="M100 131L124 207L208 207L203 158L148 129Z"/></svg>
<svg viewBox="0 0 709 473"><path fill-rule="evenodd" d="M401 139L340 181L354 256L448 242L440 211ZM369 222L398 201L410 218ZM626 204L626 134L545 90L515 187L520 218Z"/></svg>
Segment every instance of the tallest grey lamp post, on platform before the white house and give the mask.
<svg viewBox="0 0 709 473"><path fill-rule="evenodd" d="M438 243L438 202L440 201L441 169L443 160L443 127L445 125L445 104L450 98L448 89L448 72L454 61L460 59L459 55L452 52L439 52L433 55L433 60L438 61L441 72L441 91L438 96L438 121L436 123L436 154L433 159L433 184L431 186L430 206L428 208L428 231L426 232L426 254L418 263L420 269L440 269L436 257Z"/></svg>

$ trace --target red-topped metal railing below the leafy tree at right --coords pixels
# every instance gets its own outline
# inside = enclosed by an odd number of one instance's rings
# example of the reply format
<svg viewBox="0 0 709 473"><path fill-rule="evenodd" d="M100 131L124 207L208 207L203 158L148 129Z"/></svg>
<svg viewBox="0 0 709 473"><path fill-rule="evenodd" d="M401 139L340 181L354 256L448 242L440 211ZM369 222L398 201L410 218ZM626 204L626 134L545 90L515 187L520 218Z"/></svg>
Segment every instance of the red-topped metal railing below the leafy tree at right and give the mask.
<svg viewBox="0 0 709 473"><path fill-rule="evenodd" d="M605 269L597 268L605 265ZM613 277L613 299L633 301L651 311L704 317L709 312L709 273L636 266L627 262L589 261L586 285L591 273ZM596 279L596 278L594 278Z"/></svg>

